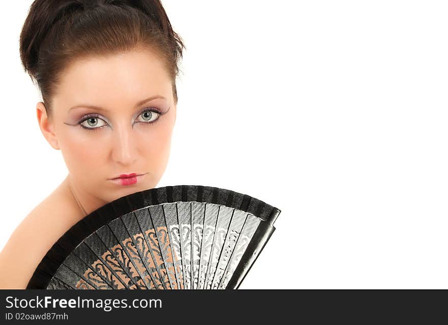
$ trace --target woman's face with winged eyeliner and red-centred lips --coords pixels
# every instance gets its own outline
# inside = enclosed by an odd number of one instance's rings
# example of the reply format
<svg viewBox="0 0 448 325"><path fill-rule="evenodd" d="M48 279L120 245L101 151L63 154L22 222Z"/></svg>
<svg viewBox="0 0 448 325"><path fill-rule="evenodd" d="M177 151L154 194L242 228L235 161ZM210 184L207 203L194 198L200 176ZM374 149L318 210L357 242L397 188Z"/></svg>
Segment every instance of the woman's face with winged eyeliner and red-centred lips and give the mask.
<svg viewBox="0 0 448 325"><path fill-rule="evenodd" d="M169 74L152 52L74 62L53 97L52 113L41 129L61 150L78 189L112 201L159 182L170 155L176 105ZM134 184L111 180L129 173L143 176Z"/></svg>

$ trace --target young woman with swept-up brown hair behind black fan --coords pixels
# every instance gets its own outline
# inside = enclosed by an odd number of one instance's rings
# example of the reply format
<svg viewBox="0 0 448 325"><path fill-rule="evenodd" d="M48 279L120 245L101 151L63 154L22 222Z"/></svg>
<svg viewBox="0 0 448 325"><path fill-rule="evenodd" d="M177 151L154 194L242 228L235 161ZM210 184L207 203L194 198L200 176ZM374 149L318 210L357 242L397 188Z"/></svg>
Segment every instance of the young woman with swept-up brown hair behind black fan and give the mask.
<svg viewBox="0 0 448 325"><path fill-rule="evenodd" d="M183 49L160 0L33 2L20 58L42 94L39 127L68 175L0 253L0 288L25 288L86 215L156 187L170 155Z"/></svg>

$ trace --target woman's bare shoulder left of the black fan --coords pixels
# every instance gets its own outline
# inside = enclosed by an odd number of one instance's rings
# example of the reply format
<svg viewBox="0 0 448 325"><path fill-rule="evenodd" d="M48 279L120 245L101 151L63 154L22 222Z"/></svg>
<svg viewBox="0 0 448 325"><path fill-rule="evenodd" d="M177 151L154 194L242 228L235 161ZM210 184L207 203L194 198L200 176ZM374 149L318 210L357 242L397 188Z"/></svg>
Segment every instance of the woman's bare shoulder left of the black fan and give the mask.
<svg viewBox="0 0 448 325"><path fill-rule="evenodd" d="M51 193L14 230L0 252L0 289L24 289L51 246L75 220L61 192Z"/></svg>

